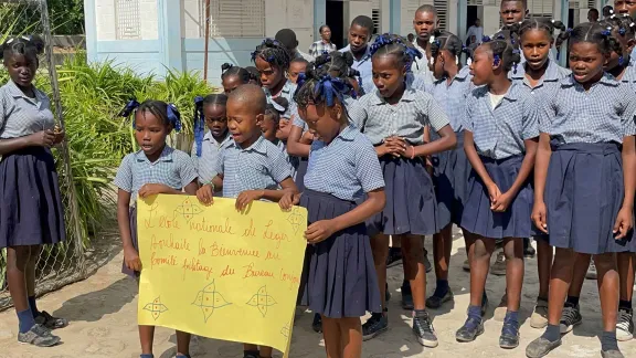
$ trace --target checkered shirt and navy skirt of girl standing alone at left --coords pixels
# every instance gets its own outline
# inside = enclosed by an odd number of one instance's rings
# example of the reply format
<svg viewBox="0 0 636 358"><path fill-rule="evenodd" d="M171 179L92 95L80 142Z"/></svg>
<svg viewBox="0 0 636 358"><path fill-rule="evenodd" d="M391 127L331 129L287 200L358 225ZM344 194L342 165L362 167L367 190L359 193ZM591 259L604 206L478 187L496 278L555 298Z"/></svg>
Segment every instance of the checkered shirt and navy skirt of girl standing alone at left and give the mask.
<svg viewBox="0 0 636 358"><path fill-rule="evenodd" d="M25 96L11 81L0 87L0 139L53 129L51 102L33 87ZM64 207L51 149L25 147L0 161L0 248L54 244L66 239Z"/></svg>

